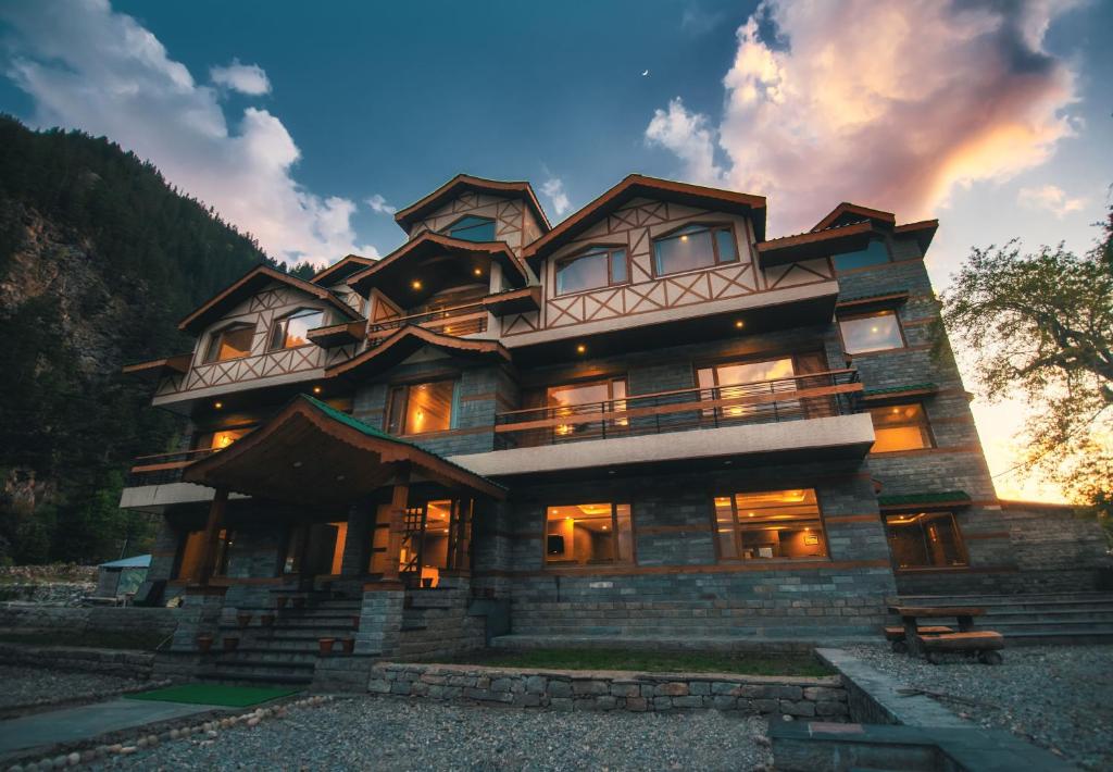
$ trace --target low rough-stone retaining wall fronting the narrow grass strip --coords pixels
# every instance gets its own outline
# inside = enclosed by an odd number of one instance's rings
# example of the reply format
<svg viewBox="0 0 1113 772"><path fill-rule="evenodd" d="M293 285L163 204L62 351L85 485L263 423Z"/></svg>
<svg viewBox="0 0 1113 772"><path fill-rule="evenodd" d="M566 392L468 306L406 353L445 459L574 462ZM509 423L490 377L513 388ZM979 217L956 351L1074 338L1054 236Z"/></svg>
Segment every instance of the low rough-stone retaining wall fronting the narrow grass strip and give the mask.
<svg viewBox="0 0 1113 772"><path fill-rule="evenodd" d="M526 671L476 665L380 663L373 694L548 707L555 711L673 711L715 709L764 715L846 721L839 676L752 676L621 671Z"/></svg>

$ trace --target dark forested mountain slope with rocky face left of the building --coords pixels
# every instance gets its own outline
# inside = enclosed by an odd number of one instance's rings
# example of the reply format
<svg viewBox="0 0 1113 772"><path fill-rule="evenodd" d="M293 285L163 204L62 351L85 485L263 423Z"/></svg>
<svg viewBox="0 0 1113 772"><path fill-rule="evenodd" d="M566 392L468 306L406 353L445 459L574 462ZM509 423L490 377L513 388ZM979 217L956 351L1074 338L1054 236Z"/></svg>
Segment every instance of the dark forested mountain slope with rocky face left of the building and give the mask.
<svg viewBox="0 0 1113 772"><path fill-rule="evenodd" d="M259 263L276 265L111 141L0 116L0 563L144 546L124 475L179 423L120 368L188 351L177 321Z"/></svg>

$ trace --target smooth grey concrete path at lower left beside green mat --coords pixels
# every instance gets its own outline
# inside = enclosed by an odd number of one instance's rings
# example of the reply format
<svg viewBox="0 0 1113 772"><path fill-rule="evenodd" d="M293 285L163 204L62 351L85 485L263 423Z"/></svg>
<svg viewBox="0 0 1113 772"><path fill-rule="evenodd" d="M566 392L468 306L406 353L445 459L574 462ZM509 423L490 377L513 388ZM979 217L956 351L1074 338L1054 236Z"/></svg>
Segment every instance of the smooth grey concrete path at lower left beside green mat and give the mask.
<svg viewBox="0 0 1113 772"><path fill-rule="evenodd" d="M17 751L90 740L108 732L138 729L197 713L227 710L219 705L186 705L144 700L108 702L36 713L0 722L0 759Z"/></svg>

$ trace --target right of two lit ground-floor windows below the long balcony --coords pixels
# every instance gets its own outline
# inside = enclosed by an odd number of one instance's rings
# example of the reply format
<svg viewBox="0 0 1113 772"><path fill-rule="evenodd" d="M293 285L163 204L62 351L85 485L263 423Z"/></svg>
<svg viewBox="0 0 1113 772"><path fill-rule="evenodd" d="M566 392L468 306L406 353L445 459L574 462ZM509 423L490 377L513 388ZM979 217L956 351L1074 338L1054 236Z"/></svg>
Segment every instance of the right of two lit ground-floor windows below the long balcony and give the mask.
<svg viewBox="0 0 1113 772"><path fill-rule="evenodd" d="M717 496L715 526L725 560L827 557L819 505L810 488Z"/></svg>

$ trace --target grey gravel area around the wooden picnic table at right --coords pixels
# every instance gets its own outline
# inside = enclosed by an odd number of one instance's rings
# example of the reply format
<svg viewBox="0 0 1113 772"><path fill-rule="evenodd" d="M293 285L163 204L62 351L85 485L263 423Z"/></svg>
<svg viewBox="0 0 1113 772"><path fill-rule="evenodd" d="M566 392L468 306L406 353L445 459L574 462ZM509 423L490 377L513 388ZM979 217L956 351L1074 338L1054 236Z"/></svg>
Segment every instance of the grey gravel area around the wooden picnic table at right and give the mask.
<svg viewBox="0 0 1113 772"><path fill-rule="evenodd" d="M979 705L940 702L982 726L1013 732L1087 770L1113 770L1113 646L1006 648L1002 665L930 665L881 646L848 651L914 688Z"/></svg>

